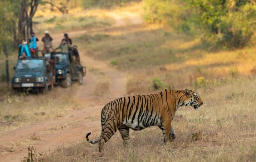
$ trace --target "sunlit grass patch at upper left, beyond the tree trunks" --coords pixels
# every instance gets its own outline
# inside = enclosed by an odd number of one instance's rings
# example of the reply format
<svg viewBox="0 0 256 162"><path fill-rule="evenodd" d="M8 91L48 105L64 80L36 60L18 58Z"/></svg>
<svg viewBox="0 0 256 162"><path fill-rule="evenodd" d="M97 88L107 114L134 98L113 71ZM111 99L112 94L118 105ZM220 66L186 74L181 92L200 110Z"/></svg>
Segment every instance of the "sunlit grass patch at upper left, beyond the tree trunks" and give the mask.
<svg viewBox="0 0 256 162"><path fill-rule="evenodd" d="M49 9L41 9L36 13L34 21L38 22L35 29L40 33L46 29L51 32L85 30L110 26L112 23L101 10L92 11L81 8L69 10L69 13L64 15L60 12L51 12Z"/></svg>

